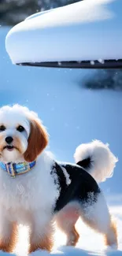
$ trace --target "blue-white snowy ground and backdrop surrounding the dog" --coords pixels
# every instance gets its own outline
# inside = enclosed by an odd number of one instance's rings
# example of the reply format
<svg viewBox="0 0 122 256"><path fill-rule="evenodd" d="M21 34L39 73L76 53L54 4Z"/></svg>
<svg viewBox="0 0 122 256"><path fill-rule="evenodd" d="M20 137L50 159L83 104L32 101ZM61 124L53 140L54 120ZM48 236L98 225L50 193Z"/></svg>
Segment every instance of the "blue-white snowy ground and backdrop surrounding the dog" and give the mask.
<svg viewBox="0 0 122 256"><path fill-rule="evenodd" d="M102 236L78 221L81 238L77 248L60 247L65 236L57 231L53 255L122 255L122 93L91 91L79 87L78 80L93 70L41 69L14 66L5 50L8 28L0 27L0 105L20 103L39 113L50 133L50 149L58 160L73 161L79 143L100 139L109 143L119 158L113 178L101 184L110 211L116 217L119 250L106 250ZM20 230L17 254L26 255L26 230ZM82 248L82 249L81 249ZM58 250L58 251L57 251ZM3 253L0 253L2 256ZM33 256L47 256L35 252ZM7 254L5 254L7 256Z"/></svg>

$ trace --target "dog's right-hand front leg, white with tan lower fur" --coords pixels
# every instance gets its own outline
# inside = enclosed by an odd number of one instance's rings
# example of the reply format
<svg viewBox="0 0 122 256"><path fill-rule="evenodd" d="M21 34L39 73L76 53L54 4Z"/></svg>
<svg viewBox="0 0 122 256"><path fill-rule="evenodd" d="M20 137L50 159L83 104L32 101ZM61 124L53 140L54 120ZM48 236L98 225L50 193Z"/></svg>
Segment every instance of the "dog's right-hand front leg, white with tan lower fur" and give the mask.
<svg viewBox="0 0 122 256"><path fill-rule="evenodd" d="M44 220L39 213L39 218L35 216L31 222L29 253L39 249L50 252L54 246L54 225L52 221Z"/></svg>

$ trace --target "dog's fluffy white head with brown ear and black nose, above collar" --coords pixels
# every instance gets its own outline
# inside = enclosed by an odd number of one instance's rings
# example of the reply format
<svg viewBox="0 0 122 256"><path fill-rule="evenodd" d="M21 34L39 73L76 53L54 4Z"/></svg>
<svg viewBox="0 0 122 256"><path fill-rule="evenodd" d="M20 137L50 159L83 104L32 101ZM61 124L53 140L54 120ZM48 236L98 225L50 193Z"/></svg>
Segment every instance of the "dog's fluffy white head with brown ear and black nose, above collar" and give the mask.
<svg viewBox="0 0 122 256"><path fill-rule="evenodd" d="M14 105L0 109L0 161L34 161L48 143L36 113Z"/></svg>

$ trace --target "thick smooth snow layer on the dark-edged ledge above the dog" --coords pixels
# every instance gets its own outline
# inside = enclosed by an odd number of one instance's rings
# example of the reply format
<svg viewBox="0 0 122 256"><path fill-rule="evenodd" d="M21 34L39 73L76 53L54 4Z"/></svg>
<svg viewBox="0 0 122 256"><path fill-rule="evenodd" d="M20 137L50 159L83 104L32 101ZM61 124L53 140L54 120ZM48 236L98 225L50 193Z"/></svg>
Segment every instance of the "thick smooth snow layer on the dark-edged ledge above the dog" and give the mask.
<svg viewBox="0 0 122 256"><path fill-rule="evenodd" d="M121 24L121 0L85 0L28 17L6 36L6 50L13 63L119 59Z"/></svg>

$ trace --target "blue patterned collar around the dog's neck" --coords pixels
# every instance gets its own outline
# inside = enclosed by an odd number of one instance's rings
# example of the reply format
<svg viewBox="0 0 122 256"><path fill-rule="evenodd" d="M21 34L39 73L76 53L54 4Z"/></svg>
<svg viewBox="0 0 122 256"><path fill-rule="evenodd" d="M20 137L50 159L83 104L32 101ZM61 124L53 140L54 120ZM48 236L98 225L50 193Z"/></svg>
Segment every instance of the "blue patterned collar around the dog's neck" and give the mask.
<svg viewBox="0 0 122 256"><path fill-rule="evenodd" d="M30 163L27 162L22 162L19 164L15 163L8 163L4 164L2 161L0 161L0 167L9 173L9 176L17 176L18 174L23 174L23 173L28 173L34 166L35 166L36 161L31 161Z"/></svg>

